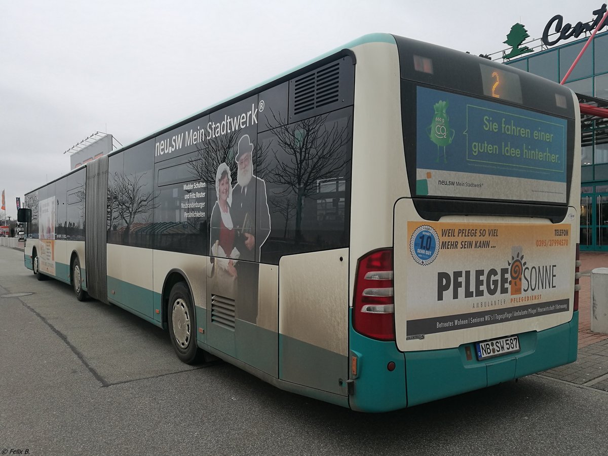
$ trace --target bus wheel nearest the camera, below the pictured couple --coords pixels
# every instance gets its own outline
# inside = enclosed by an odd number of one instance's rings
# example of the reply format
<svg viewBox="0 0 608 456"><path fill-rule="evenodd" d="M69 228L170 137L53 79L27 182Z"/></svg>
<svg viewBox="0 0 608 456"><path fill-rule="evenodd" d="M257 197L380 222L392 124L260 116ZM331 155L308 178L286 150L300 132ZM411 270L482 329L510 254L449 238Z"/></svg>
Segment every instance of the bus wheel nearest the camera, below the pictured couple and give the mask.
<svg viewBox="0 0 608 456"><path fill-rule="evenodd" d="M167 320L171 344L178 358L185 364L195 364L198 361L196 317L190 291L184 282L171 288Z"/></svg>

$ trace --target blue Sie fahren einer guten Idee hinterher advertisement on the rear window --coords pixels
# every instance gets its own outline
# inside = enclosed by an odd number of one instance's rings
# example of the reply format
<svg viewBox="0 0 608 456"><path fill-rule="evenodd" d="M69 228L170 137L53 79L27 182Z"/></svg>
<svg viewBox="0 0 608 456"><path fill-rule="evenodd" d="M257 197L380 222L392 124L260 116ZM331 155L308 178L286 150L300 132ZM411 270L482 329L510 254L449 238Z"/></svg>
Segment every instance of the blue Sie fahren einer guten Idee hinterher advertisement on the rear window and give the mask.
<svg viewBox="0 0 608 456"><path fill-rule="evenodd" d="M567 122L418 87L416 195L566 202Z"/></svg>

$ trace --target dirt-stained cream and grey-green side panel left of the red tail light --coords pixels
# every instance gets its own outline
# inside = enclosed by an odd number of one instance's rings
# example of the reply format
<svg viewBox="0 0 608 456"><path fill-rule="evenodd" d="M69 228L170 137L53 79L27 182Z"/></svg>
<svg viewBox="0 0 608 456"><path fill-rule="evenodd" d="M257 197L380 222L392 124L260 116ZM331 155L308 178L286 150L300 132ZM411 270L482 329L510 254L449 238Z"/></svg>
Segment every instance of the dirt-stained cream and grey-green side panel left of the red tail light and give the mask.
<svg viewBox="0 0 608 456"><path fill-rule="evenodd" d="M279 378L347 395L348 249L281 258Z"/></svg>

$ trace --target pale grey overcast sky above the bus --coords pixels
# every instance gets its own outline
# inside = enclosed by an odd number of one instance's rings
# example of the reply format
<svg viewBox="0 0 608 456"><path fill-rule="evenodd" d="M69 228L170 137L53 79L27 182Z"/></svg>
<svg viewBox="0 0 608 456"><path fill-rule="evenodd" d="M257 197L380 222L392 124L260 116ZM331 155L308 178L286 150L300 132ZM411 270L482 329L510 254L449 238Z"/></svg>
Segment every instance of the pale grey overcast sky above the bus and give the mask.
<svg viewBox="0 0 608 456"><path fill-rule="evenodd" d="M602 3L0 0L7 215L89 134L127 145L365 33L489 54L516 22L539 38L554 15L590 21Z"/></svg>

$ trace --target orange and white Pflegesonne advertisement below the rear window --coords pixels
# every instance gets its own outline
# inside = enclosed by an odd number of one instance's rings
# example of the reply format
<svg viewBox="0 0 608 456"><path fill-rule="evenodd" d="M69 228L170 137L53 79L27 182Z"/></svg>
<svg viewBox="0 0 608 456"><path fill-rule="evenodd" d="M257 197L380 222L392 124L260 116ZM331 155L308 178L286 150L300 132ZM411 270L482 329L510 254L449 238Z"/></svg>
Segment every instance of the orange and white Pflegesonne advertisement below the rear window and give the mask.
<svg viewBox="0 0 608 456"><path fill-rule="evenodd" d="M407 239L407 340L572 311L570 224L410 221Z"/></svg>

